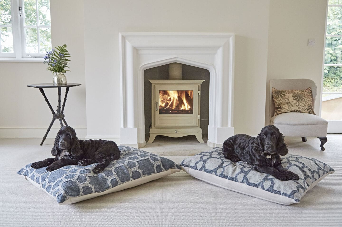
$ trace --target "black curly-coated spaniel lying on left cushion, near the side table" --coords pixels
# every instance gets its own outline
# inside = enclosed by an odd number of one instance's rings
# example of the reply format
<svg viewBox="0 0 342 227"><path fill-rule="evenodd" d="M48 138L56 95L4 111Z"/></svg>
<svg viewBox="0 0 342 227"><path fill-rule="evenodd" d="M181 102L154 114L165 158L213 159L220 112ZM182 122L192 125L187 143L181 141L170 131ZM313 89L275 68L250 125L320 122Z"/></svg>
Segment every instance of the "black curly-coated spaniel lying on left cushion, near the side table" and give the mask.
<svg viewBox="0 0 342 227"><path fill-rule="evenodd" d="M61 127L51 154L55 157L32 163L31 167L38 169L48 166L46 169L53 171L67 165L87 166L98 163L93 171L99 173L111 161L120 158L120 150L115 142L103 139L77 139L75 130L70 126Z"/></svg>

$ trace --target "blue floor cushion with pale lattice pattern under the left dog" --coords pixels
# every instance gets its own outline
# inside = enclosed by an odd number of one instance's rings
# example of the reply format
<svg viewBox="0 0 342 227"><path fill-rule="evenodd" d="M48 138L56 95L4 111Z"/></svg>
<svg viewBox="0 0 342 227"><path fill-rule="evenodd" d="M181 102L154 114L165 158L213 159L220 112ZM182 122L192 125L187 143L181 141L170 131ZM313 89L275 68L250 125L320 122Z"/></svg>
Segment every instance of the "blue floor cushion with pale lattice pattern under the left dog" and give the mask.
<svg viewBox="0 0 342 227"><path fill-rule="evenodd" d="M60 205L79 202L117 192L158 178L181 168L173 161L146 151L119 146L121 156L102 172L93 172L95 164L69 165L49 172L47 167L26 165L17 173L55 198Z"/></svg>

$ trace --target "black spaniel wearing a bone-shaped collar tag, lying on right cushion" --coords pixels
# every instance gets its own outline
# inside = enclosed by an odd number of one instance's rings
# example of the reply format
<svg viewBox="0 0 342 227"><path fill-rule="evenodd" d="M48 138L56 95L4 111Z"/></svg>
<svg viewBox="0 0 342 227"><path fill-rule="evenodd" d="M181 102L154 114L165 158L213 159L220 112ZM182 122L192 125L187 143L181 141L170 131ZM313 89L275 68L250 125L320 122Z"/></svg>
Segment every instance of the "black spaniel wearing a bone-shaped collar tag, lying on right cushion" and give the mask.
<svg viewBox="0 0 342 227"><path fill-rule="evenodd" d="M246 134L229 137L222 148L224 157L232 162L247 162L255 170L282 181L299 180L297 174L281 166L280 155L288 151L284 137L274 125L264 127L257 137Z"/></svg>

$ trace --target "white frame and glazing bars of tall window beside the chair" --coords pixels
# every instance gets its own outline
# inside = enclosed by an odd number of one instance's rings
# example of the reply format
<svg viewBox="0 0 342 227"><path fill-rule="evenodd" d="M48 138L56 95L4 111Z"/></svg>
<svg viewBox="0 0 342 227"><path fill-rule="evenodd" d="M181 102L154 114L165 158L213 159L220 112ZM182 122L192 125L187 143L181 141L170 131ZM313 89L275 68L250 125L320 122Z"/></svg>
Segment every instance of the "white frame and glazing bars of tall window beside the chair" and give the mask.
<svg viewBox="0 0 342 227"><path fill-rule="evenodd" d="M327 23L328 23L328 10L329 6L342 7L342 5L329 5L329 0L327 2L327 12L325 20L325 36L324 36L324 56L323 56L323 71L322 71L322 97L323 94L342 94L342 92L323 92L323 80L324 80L324 66L342 66L342 64L325 64L325 45L326 37L342 37L342 35L327 35ZM322 101L321 101L322 102ZM322 105L321 105L322 106ZM328 133L342 133L342 120L328 120Z"/></svg>

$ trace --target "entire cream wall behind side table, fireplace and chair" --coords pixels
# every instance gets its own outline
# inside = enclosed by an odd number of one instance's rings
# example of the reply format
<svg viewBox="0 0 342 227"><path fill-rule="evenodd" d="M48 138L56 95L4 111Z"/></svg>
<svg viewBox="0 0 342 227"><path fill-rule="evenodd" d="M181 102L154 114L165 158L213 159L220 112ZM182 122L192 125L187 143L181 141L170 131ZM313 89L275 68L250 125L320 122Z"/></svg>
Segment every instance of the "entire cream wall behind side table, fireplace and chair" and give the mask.
<svg viewBox="0 0 342 227"><path fill-rule="evenodd" d="M66 120L84 136L87 127L89 138L120 135L121 31L235 32L235 133L257 134L264 126L269 79L311 78L318 90L321 87L326 0L51 0L50 4L53 46L68 45L72 56L68 82L82 84L70 88ZM316 39L316 46L307 47L307 39ZM0 137L44 135L51 112L39 90L26 85L50 82L52 75L45 69L43 63L0 62ZM55 109L57 91L45 91ZM316 103L319 112L317 108ZM58 129L57 122L54 128Z"/></svg>

